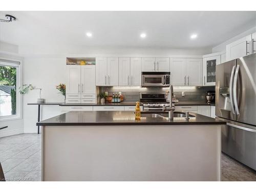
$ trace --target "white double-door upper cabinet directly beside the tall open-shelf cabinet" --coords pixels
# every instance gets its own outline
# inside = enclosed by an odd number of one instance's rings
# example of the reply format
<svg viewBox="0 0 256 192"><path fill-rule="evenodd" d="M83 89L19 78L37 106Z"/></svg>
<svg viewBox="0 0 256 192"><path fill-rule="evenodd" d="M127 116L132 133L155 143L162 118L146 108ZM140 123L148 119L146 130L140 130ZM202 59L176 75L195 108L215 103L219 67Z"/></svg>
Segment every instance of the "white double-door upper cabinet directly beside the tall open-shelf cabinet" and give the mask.
<svg viewBox="0 0 256 192"><path fill-rule="evenodd" d="M96 86L118 86L118 57L96 57Z"/></svg>

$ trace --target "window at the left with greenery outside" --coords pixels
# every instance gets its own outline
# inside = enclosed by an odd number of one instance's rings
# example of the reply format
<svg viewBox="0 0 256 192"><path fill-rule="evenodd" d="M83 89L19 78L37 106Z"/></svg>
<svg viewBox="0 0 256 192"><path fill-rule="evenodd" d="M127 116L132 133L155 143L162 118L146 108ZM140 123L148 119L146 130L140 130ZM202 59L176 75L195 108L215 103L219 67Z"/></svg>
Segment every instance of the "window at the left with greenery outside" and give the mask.
<svg viewBox="0 0 256 192"><path fill-rule="evenodd" d="M19 117L19 68L18 61L0 59L0 119Z"/></svg>

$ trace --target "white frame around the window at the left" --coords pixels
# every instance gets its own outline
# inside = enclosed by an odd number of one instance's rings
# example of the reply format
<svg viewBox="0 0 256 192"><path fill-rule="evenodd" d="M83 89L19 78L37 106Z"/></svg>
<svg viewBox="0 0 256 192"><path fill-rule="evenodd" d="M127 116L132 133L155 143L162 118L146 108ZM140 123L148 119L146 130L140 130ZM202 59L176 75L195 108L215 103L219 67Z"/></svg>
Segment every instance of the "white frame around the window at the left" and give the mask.
<svg viewBox="0 0 256 192"><path fill-rule="evenodd" d="M23 61L20 59L6 58L6 57L0 57L0 59L10 61L10 62L1 61L2 63L5 63L5 65L0 64L1 66L17 67L16 68L16 114L0 116L0 121L22 119L23 96L22 94L19 93L19 87L22 86L22 82L23 82L22 81L23 80ZM19 62L19 64L15 62Z"/></svg>

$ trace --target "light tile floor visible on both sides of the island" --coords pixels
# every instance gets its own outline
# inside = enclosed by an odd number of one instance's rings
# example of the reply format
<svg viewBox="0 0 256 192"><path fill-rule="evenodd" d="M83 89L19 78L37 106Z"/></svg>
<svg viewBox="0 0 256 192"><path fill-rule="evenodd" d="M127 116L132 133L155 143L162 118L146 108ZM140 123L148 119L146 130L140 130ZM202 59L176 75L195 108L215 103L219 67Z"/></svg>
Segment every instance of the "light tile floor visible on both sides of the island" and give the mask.
<svg viewBox="0 0 256 192"><path fill-rule="evenodd" d="M0 138L0 161L7 181L40 181L41 134ZM256 172L222 154L222 181L256 181Z"/></svg>

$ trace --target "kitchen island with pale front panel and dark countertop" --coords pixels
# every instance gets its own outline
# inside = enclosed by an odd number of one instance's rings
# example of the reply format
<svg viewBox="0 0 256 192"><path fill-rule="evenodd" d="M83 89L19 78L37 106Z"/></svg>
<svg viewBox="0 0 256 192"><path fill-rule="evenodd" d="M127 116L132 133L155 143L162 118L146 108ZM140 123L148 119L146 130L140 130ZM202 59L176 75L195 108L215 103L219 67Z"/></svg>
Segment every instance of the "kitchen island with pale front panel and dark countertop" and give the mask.
<svg viewBox="0 0 256 192"><path fill-rule="evenodd" d="M220 181L225 122L175 114L77 111L38 122L42 181Z"/></svg>

